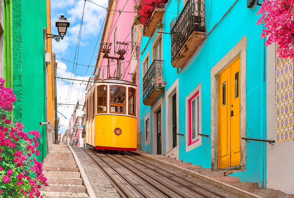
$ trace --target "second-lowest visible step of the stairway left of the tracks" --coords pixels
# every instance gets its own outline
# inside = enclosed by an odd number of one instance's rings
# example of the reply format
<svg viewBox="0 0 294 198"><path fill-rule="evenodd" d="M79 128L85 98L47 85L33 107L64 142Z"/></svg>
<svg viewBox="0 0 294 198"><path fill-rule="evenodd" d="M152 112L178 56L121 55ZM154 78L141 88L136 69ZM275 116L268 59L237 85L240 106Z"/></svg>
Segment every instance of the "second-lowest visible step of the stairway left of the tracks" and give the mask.
<svg viewBox="0 0 294 198"><path fill-rule="evenodd" d="M42 191L46 192L71 192L71 193L85 193L86 187L84 185L72 185L72 184L49 184L43 186Z"/></svg>

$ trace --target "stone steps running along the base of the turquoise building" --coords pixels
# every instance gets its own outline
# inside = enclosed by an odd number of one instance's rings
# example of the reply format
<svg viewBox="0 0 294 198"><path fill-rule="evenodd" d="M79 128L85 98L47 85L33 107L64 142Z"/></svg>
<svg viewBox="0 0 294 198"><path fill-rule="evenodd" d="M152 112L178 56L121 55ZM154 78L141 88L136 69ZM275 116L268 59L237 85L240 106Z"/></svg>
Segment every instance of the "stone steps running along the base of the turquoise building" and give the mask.
<svg viewBox="0 0 294 198"><path fill-rule="evenodd" d="M286 194L280 190L274 189L258 189L258 184L254 182L240 182L239 177L227 176L231 171L212 171L210 168L202 168L201 165L192 165L191 162L183 162L163 155L149 154L146 151L137 151L136 153L143 154L162 162L167 162L175 165L175 167L182 167L192 172L205 175L209 178L224 182L236 188L245 190L249 193L264 197L264 198L294 198L294 194ZM143 157L143 156L142 156ZM159 162L160 163L160 162ZM163 164L163 163L162 163Z"/></svg>

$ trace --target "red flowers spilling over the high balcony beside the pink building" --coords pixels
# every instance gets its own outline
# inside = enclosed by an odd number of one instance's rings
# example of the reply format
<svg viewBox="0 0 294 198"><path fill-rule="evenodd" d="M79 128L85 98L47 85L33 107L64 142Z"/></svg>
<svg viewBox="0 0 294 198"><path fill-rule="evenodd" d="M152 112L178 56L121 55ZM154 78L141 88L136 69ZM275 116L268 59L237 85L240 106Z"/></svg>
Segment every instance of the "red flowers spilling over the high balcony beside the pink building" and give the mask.
<svg viewBox="0 0 294 198"><path fill-rule="evenodd" d="M140 23L146 25L153 13L154 8L164 8L166 0L141 0L138 5L134 6L134 10L138 12L136 16Z"/></svg>

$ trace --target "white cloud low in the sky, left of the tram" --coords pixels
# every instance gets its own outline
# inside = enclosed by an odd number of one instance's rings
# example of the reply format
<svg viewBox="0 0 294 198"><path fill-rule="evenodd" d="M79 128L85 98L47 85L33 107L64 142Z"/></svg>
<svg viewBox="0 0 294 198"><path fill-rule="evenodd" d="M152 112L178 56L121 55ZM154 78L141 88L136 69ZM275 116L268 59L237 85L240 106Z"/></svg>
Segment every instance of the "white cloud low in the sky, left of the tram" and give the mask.
<svg viewBox="0 0 294 198"><path fill-rule="evenodd" d="M66 63L60 63L59 60L56 60L58 62L58 70L57 70L57 76L62 76L65 78L73 78L74 75L71 75L71 72L66 71L67 65ZM78 80L88 80L89 76L75 76L74 79ZM57 79L57 101L58 103L67 103L67 104L76 104L77 99L80 97L85 96L85 84L87 82L82 81L71 81L70 80L62 80L60 78ZM74 107L73 105L59 105L57 107L57 110L62 113L66 118L70 120L71 115L74 113ZM69 121L63 117L60 113L58 113L58 117L60 118L59 124L66 126L66 127L60 127L59 133L65 132L68 128Z"/></svg>

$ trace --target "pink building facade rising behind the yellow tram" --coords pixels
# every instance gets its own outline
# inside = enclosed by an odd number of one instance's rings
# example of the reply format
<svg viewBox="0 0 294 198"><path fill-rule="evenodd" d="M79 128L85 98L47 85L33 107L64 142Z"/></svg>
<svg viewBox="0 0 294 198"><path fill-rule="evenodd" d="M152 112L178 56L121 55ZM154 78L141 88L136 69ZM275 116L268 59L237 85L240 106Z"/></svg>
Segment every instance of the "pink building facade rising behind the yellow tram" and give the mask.
<svg viewBox="0 0 294 198"><path fill-rule="evenodd" d="M103 58L101 52L97 57L96 69L94 71L96 79L117 78L135 83L137 87L137 148L141 148L140 138L140 44L142 32L140 25L134 24L134 1L110 0L107 18L101 42L111 43L109 56L119 57L117 52L123 45L116 42L127 43L124 59L110 59L108 72L108 59ZM119 12L121 11L121 13ZM128 31L127 31L128 30Z"/></svg>

